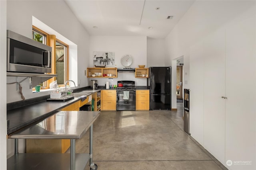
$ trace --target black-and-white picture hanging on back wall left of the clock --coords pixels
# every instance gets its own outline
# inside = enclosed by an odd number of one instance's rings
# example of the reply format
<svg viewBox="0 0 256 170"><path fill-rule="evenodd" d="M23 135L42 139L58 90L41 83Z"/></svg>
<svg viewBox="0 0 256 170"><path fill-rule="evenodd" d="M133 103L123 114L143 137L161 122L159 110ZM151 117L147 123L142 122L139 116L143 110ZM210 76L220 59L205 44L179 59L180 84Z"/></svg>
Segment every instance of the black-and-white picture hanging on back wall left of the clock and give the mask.
<svg viewBox="0 0 256 170"><path fill-rule="evenodd" d="M93 52L94 66L115 66L115 52L94 51Z"/></svg>

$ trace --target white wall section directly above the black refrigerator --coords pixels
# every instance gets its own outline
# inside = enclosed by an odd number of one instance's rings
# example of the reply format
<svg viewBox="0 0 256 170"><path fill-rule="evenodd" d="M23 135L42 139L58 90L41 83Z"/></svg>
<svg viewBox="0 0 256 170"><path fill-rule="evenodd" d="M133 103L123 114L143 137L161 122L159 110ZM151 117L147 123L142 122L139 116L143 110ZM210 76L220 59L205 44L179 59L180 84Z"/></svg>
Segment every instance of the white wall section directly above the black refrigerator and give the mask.
<svg viewBox="0 0 256 170"><path fill-rule="evenodd" d="M164 39L147 39L147 66L170 66L166 64Z"/></svg>

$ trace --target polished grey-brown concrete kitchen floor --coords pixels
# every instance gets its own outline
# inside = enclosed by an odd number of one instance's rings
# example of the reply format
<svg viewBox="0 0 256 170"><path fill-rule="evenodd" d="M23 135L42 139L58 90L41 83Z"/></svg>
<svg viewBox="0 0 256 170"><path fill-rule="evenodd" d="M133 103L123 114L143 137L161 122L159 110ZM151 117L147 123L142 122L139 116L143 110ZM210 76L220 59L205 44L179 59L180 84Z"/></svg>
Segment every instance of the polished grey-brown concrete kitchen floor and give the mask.
<svg viewBox="0 0 256 170"><path fill-rule="evenodd" d="M182 106L177 103L178 111L101 111L93 129L98 170L226 169L183 131ZM89 152L89 131L76 140L76 152Z"/></svg>

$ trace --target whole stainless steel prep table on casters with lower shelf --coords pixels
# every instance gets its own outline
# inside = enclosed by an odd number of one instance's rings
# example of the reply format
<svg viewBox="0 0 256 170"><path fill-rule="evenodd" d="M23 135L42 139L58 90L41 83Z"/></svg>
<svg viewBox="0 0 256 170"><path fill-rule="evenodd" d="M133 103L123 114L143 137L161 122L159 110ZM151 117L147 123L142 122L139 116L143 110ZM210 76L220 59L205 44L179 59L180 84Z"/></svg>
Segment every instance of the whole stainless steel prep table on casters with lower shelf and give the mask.
<svg viewBox="0 0 256 170"><path fill-rule="evenodd" d="M88 160L92 162L93 123L100 111L59 111L36 125L11 133L15 139L15 154L7 160L8 170L84 170ZM75 140L80 139L90 128L90 153L75 154ZM70 154L18 153L18 139L70 139Z"/></svg>

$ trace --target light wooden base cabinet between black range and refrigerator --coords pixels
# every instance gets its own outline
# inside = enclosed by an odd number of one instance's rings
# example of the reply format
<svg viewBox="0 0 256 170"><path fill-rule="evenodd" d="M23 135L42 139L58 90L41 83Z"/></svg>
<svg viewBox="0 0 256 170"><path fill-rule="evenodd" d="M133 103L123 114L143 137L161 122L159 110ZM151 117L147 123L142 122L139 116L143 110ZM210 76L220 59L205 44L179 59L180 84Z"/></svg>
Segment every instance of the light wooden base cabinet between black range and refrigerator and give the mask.
<svg viewBox="0 0 256 170"><path fill-rule="evenodd" d="M149 90L136 90L136 110L149 110Z"/></svg>

